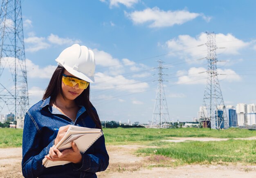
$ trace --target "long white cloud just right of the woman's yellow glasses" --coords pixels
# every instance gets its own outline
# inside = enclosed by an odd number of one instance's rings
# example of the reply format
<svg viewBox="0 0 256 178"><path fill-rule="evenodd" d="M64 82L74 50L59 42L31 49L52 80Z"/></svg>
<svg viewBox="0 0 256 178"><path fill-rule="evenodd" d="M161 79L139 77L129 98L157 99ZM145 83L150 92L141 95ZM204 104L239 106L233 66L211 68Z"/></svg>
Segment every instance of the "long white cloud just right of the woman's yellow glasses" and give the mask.
<svg viewBox="0 0 256 178"><path fill-rule="evenodd" d="M137 93L146 91L149 87L146 82L139 82L137 80L127 79L124 76L118 75L115 77L108 76L104 73L95 73L95 84L92 88L104 90L115 89L116 91L126 91L129 93Z"/></svg>

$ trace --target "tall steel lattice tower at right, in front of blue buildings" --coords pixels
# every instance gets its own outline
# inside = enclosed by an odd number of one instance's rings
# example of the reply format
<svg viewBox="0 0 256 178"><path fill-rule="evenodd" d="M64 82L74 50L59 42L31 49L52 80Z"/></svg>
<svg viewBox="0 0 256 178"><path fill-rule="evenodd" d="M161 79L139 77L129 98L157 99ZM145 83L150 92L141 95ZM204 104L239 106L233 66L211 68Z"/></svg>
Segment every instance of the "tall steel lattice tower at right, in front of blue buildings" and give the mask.
<svg viewBox="0 0 256 178"><path fill-rule="evenodd" d="M227 129L229 122L227 120L226 109L220 90L220 83L218 80L217 65L218 62L216 56L216 35L215 33L207 33L207 84L204 90L204 100L202 112L203 116L200 118L200 122L203 122L204 126L212 129Z"/></svg>

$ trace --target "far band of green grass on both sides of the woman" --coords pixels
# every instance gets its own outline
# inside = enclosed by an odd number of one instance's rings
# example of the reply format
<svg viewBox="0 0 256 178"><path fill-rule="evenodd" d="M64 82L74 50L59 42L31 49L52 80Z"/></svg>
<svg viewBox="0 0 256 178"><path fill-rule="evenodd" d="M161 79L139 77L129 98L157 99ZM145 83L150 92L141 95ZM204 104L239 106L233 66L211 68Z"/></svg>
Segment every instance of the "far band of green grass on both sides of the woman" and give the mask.
<svg viewBox="0 0 256 178"><path fill-rule="evenodd" d="M22 129L0 128L0 148L20 147ZM167 140L170 137L214 137L214 138L247 138L256 136L256 131L230 128L226 130L180 128L180 129L146 129L115 128L103 129L107 144L127 145L146 144L152 141Z"/></svg>

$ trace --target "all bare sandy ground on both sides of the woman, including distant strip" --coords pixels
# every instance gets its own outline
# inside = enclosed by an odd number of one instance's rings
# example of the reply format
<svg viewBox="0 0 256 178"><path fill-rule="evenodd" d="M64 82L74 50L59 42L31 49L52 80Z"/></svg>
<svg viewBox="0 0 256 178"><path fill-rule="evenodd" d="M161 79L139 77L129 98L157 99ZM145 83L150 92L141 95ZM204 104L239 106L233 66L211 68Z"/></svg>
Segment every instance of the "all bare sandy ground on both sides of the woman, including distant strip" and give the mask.
<svg viewBox="0 0 256 178"><path fill-rule="evenodd" d="M188 140L177 138L175 140ZM198 139L198 138L197 138ZM205 138L200 138L204 141ZM212 139L212 138L211 138ZM209 139L208 141L211 141ZM215 140L214 140L215 141ZM107 145L110 165L104 172L97 173L99 178L256 178L256 166L247 165L185 165L179 167L153 167L146 157L133 153L141 145ZM20 178L21 148L0 149L0 178Z"/></svg>

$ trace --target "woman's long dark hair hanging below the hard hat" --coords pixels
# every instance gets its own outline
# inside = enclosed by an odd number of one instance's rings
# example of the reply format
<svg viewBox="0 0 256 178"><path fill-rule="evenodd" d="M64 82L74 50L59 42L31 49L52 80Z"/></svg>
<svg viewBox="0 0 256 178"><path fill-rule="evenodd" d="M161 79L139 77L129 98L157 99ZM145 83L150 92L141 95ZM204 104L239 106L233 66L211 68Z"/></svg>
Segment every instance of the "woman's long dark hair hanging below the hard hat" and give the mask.
<svg viewBox="0 0 256 178"><path fill-rule="evenodd" d="M56 97L58 93L61 93L61 95L64 98L64 94L62 91L62 74L64 72L64 67L58 66L54 73L52 74L52 78L49 82L48 87L45 90L45 94L43 95L43 100L51 96L52 102L56 101ZM102 129L101 127L101 121L99 120L99 116L94 110L94 106L90 102L90 84L89 86L75 99L76 105L82 105L85 107L88 115L93 119L93 121L96 124L96 128Z"/></svg>

